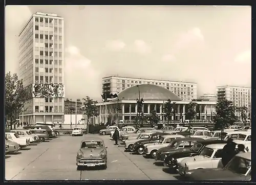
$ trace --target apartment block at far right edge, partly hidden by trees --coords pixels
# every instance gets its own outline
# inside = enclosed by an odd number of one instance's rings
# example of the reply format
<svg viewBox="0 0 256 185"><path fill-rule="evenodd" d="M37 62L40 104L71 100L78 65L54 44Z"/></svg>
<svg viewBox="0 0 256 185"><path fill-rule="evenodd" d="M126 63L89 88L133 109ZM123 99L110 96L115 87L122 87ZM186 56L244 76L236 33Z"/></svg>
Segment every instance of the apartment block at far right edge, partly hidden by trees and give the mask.
<svg viewBox="0 0 256 185"><path fill-rule="evenodd" d="M245 106L248 108L248 115L251 116L251 88L228 85L217 86L217 99L227 99L237 107Z"/></svg>

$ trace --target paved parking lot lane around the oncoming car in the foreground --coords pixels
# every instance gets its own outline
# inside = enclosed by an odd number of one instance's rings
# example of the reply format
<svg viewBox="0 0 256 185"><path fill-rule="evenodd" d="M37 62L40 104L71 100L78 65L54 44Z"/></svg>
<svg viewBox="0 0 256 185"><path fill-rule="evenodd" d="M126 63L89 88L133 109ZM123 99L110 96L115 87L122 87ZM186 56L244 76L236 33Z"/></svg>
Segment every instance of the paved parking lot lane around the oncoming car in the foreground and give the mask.
<svg viewBox="0 0 256 185"><path fill-rule="evenodd" d="M91 134L88 134L91 135ZM76 153L83 136L60 136L32 144L5 157L6 180L177 180L179 175L153 164L154 159L124 152L109 135L100 135L108 146L108 168L76 169ZM95 134L93 134L95 135Z"/></svg>

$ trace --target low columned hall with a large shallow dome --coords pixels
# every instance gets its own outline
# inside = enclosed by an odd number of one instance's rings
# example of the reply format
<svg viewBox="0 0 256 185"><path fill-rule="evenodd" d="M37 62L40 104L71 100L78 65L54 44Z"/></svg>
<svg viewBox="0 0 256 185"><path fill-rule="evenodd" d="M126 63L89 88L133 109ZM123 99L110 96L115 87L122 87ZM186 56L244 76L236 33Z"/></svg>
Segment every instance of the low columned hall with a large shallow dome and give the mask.
<svg viewBox="0 0 256 185"><path fill-rule="evenodd" d="M99 107L99 116L92 120L93 123L106 123L115 122L120 120L126 122L133 122L136 115L139 113L137 109L137 100L143 99L141 113L144 115L150 114L152 110L156 110L161 121L164 120L162 112L163 104L170 100L175 103L175 118L176 122L183 122L185 120L185 111L189 101L182 101L179 96L175 95L172 91L160 87L158 85L142 84L126 88L119 92L118 97L109 102L97 103ZM215 111L216 102L196 102L197 109L201 111L199 119L210 119L211 112ZM207 115L206 115L207 112Z"/></svg>

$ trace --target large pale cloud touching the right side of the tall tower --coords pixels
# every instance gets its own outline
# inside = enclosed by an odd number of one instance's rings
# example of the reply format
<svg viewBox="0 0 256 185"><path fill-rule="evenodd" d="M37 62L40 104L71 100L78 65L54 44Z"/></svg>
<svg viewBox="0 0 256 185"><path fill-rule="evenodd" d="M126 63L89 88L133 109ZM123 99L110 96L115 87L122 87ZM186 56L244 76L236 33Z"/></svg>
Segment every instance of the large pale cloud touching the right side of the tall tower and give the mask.
<svg viewBox="0 0 256 185"><path fill-rule="evenodd" d="M92 61L84 57L75 46L66 49L65 84L67 98L93 99L99 97L101 79L99 72L93 67Z"/></svg>

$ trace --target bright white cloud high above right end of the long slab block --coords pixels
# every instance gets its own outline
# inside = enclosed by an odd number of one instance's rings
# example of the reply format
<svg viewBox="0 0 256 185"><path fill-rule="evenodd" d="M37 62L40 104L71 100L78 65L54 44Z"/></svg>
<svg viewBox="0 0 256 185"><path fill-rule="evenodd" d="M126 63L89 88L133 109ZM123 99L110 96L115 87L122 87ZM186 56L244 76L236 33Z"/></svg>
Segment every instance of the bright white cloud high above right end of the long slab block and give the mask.
<svg viewBox="0 0 256 185"><path fill-rule="evenodd" d="M187 32L179 35L178 40L176 42L175 48L177 50L190 47L191 44L195 42L204 41L204 36L199 28L189 29Z"/></svg>

